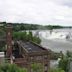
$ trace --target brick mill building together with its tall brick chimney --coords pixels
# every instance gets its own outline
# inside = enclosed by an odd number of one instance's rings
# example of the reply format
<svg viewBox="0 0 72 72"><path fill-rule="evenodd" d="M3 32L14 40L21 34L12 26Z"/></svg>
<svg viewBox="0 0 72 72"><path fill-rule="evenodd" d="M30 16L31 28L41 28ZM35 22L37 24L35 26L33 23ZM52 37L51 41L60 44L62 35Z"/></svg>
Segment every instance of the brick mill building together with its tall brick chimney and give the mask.
<svg viewBox="0 0 72 72"><path fill-rule="evenodd" d="M49 72L50 53L45 48L33 42L15 41L12 47L12 27L7 25L7 57L20 67L26 67L33 72L32 65L40 64L41 72Z"/></svg>

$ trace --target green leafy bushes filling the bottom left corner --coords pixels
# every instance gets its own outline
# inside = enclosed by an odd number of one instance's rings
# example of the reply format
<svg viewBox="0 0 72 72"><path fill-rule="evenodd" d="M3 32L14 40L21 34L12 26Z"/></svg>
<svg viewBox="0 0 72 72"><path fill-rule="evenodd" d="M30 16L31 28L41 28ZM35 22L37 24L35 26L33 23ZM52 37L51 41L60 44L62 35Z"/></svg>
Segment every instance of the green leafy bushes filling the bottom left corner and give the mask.
<svg viewBox="0 0 72 72"><path fill-rule="evenodd" d="M0 65L0 72L27 72L26 68L20 68L15 64Z"/></svg>

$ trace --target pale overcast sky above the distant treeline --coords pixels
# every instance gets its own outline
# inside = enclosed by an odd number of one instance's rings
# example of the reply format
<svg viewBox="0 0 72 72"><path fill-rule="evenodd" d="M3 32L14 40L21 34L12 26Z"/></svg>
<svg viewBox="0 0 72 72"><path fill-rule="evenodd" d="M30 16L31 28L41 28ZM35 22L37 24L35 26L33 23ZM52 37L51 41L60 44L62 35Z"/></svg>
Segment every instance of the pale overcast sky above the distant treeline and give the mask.
<svg viewBox="0 0 72 72"><path fill-rule="evenodd" d="M72 26L72 0L0 0L0 21Z"/></svg>

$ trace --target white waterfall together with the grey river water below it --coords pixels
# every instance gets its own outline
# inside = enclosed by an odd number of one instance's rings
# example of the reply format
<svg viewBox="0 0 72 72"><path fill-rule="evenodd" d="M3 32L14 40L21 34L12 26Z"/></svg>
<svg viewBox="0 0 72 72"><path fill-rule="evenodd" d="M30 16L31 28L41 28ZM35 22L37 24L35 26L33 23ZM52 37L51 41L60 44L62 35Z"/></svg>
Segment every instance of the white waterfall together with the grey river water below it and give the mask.
<svg viewBox="0 0 72 72"><path fill-rule="evenodd" d="M66 36L69 35L70 38L66 39ZM39 37L42 40L41 45L47 49L51 49L55 52L62 51L72 51L72 30L54 30L52 34L50 31L40 31Z"/></svg>

